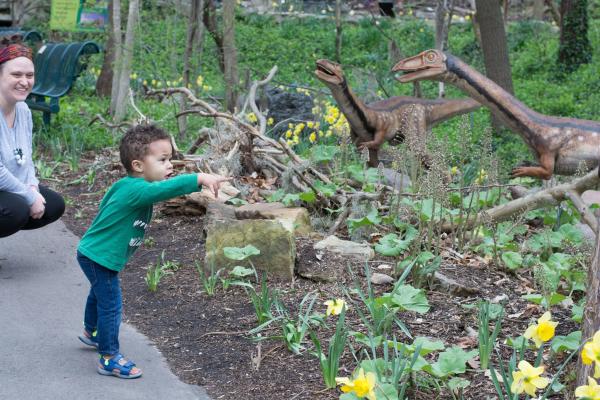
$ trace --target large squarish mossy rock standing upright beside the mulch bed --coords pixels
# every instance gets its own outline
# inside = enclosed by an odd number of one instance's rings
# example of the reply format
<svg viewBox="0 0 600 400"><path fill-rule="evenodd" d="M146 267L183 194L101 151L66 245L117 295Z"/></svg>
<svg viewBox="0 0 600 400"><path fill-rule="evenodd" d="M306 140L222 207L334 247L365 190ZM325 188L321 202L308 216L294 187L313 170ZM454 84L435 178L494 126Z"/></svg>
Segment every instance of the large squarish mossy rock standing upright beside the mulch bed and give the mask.
<svg viewBox="0 0 600 400"><path fill-rule="evenodd" d="M216 271L248 265L247 261L230 260L223 253L224 247L244 247L248 244L260 250L260 255L251 258L257 269L292 279L296 243L292 233L277 220L228 219L225 223L211 224L206 231L205 268L214 266Z"/></svg>

